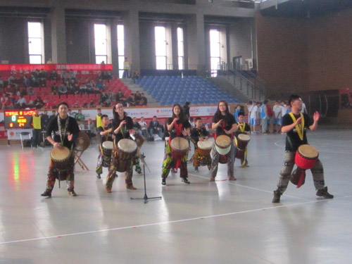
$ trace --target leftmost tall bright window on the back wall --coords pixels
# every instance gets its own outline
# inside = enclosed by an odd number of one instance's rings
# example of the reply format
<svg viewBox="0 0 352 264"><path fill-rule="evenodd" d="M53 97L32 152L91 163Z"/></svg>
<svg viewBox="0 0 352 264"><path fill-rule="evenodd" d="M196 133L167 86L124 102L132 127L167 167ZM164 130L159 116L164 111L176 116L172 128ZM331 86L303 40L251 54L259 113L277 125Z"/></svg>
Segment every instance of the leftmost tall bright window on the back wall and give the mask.
<svg viewBox="0 0 352 264"><path fill-rule="evenodd" d="M44 37L42 23L28 22L28 53L30 64L41 64L44 57Z"/></svg>

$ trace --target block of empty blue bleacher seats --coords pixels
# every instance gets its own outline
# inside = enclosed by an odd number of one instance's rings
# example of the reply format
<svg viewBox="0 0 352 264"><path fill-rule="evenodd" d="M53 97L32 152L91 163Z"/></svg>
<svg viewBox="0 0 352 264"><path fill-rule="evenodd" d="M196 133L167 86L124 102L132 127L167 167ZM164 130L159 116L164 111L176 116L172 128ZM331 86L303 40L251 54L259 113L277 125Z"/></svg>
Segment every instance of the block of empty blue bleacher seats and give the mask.
<svg viewBox="0 0 352 264"><path fill-rule="evenodd" d="M238 99L199 76L144 76L136 83L162 106L183 105L186 101L193 105L216 104L224 99L227 103L239 103Z"/></svg>

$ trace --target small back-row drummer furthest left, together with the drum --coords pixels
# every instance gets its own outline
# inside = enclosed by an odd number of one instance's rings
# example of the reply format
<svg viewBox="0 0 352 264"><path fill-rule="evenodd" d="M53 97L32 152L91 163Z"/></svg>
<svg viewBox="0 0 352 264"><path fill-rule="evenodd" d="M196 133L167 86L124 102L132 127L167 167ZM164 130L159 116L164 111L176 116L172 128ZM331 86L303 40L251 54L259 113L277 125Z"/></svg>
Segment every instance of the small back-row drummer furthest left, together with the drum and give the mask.
<svg viewBox="0 0 352 264"><path fill-rule="evenodd" d="M101 115L100 119L101 126L97 128L97 132L100 134L99 156L95 170L98 179L101 178L100 175L103 173L103 167L110 167L111 154L113 153L113 139L111 137L111 132L113 130L112 125L108 115ZM105 146L103 146L104 143Z"/></svg>

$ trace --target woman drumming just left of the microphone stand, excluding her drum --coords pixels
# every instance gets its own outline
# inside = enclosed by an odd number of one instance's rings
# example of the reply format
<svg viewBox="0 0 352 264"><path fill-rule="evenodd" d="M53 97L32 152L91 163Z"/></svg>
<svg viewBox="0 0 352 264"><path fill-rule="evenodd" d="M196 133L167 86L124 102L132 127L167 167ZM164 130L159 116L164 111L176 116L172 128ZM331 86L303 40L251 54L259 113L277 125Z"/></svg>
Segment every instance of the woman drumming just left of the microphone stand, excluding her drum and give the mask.
<svg viewBox="0 0 352 264"><path fill-rule="evenodd" d="M113 106L113 135L115 137L114 144L115 149L111 157L111 164L108 172L108 177L106 178L106 192L111 193L113 187L113 181L115 180L116 168L118 168L118 142L121 139L129 139L130 134L133 133L133 122L132 118L127 116L127 113L124 111L122 103L118 102ZM136 188L132 184L132 173L133 173L133 159L127 164L126 170L126 188L135 190Z"/></svg>

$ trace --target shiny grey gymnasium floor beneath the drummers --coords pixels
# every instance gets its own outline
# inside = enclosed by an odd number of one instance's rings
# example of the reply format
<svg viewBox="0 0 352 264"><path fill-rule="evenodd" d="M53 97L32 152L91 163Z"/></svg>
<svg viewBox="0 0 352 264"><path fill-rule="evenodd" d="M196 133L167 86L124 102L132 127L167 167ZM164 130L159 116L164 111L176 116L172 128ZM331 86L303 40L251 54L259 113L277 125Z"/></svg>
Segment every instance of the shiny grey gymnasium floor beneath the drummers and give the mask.
<svg viewBox="0 0 352 264"><path fill-rule="evenodd" d="M164 142L146 142L143 177L134 172L137 191L118 177L107 194L96 180L96 144L84 152L89 167L76 165L75 191L58 184L51 199L45 189L50 147L0 146L0 263L351 263L351 130L310 132L320 151L332 200L315 196L310 172L306 184L290 184L282 203L272 191L282 166L284 135L252 135L249 168L235 163L236 182L220 165L216 182L205 167L183 184L170 175L161 186ZM104 168L104 175L106 175Z"/></svg>

